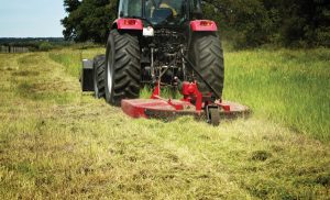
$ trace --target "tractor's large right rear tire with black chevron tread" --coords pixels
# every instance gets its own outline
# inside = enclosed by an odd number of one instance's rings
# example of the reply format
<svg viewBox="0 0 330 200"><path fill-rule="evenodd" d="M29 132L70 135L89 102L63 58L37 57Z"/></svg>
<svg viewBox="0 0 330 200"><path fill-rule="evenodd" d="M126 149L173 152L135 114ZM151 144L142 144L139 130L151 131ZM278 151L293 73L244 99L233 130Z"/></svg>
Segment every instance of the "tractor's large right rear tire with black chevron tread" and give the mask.
<svg viewBox="0 0 330 200"><path fill-rule="evenodd" d="M200 76L197 76L198 89L202 93L212 92L222 98L224 81L223 49L220 38L215 33L194 33L188 59L195 65ZM205 82L207 81L209 86Z"/></svg>

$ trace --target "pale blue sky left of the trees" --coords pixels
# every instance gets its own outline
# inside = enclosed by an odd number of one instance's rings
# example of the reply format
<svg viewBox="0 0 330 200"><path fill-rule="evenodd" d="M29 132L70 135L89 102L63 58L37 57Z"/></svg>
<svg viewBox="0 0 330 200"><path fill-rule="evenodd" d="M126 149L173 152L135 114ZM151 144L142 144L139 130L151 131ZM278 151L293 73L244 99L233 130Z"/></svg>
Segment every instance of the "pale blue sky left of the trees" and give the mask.
<svg viewBox="0 0 330 200"><path fill-rule="evenodd" d="M0 37L62 37L63 0L0 0Z"/></svg>

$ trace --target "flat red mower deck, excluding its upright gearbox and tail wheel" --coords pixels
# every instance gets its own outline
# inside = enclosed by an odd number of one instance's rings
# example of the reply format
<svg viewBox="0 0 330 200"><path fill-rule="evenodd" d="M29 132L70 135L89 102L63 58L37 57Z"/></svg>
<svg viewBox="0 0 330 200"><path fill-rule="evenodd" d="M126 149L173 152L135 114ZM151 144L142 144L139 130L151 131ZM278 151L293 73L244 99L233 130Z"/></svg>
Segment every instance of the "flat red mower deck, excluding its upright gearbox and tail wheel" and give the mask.
<svg viewBox="0 0 330 200"><path fill-rule="evenodd" d="M222 101L222 103L217 105L220 115L227 119L246 116L250 113L248 107L230 101ZM182 115L195 115L197 118L206 116L205 110L198 111L190 102L172 99L122 100L121 108L132 118L173 119Z"/></svg>

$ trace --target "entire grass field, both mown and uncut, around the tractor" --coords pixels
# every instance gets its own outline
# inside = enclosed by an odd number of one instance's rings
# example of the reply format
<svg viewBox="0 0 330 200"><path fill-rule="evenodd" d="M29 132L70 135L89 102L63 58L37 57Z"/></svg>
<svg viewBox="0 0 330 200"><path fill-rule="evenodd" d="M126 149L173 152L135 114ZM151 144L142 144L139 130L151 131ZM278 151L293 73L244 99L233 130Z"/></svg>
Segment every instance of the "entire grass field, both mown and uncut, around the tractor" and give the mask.
<svg viewBox="0 0 330 200"><path fill-rule="evenodd" d="M132 120L81 95L80 57L0 54L0 199L330 199L330 51L226 54L250 119Z"/></svg>

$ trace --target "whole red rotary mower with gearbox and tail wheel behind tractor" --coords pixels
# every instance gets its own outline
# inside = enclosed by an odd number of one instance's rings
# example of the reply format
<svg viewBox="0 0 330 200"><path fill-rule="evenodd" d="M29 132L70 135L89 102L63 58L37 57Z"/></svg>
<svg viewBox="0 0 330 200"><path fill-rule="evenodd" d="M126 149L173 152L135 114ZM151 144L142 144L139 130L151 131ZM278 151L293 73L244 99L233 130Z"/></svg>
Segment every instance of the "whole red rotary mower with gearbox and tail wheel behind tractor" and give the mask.
<svg viewBox="0 0 330 200"><path fill-rule="evenodd" d="M183 82L180 100L161 97L161 86L156 85L151 99L122 100L121 108L132 118L173 119L180 115L206 118L213 125L219 125L220 115L224 118L246 116L250 109L230 101L212 102L204 97L196 82Z"/></svg>

